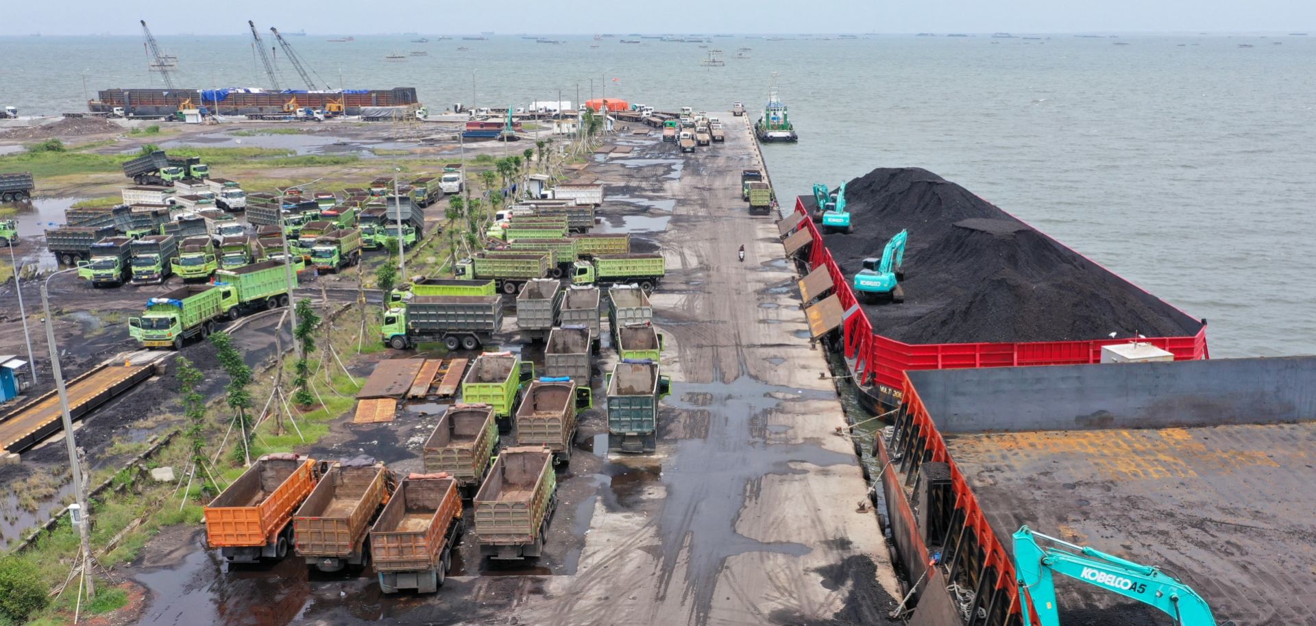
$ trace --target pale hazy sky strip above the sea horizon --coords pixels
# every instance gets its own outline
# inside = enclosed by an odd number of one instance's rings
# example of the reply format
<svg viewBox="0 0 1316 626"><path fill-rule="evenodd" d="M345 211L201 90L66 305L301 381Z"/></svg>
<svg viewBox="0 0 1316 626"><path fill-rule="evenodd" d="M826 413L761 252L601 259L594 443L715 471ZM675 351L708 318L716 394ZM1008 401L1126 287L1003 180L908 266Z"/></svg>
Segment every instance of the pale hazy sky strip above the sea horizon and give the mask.
<svg viewBox="0 0 1316 626"><path fill-rule="evenodd" d="M242 34L246 20L308 33L1305 32L1313 0L8 0L0 34ZM387 11L396 8L396 11ZM661 12L659 12L661 8ZM659 14L665 16L661 21ZM679 20L699 16L697 20Z"/></svg>

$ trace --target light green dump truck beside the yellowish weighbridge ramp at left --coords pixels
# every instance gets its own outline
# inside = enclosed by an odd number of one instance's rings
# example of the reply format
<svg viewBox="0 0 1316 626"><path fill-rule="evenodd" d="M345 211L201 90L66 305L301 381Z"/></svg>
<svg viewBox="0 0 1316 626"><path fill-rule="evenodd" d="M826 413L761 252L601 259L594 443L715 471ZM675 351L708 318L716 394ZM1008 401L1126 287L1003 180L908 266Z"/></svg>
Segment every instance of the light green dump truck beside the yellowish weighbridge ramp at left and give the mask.
<svg viewBox="0 0 1316 626"><path fill-rule="evenodd" d="M146 300L141 317L128 320L129 337L142 347L172 347L200 335L209 337L228 313L225 291L215 285L187 285Z"/></svg>

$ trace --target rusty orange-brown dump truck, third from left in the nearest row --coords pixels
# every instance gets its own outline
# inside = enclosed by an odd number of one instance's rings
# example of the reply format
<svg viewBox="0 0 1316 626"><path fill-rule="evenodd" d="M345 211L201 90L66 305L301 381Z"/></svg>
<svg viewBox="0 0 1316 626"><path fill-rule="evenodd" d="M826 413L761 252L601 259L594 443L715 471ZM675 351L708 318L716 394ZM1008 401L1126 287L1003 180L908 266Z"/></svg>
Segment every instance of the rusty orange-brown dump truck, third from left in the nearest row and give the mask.
<svg viewBox="0 0 1316 626"><path fill-rule="evenodd" d="M438 590L462 530L462 496L455 479L447 473L407 476L370 529L379 589Z"/></svg>

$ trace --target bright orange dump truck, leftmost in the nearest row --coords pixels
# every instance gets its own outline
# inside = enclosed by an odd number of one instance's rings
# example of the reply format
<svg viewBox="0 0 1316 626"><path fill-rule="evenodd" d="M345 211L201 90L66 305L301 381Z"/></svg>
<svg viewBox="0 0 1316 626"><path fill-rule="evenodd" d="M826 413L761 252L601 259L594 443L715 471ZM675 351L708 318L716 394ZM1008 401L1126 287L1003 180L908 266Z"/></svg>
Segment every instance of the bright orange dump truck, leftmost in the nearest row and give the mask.
<svg viewBox="0 0 1316 626"><path fill-rule="evenodd" d="M316 487L316 462L268 454L205 508L205 541L233 563L282 559L292 543L292 512Z"/></svg>

